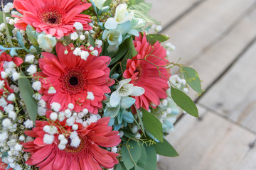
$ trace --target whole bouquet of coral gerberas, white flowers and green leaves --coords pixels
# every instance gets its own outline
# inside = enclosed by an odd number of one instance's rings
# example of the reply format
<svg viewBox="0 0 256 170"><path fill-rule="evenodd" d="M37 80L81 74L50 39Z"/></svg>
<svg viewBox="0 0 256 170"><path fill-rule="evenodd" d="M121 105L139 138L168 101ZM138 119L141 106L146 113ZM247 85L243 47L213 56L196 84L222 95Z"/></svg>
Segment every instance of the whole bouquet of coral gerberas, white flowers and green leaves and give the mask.
<svg viewBox="0 0 256 170"><path fill-rule="evenodd" d="M144 0L14 0L0 13L0 169L156 169L191 67ZM155 31L155 33L151 33ZM179 67L171 76L171 68Z"/></svg>

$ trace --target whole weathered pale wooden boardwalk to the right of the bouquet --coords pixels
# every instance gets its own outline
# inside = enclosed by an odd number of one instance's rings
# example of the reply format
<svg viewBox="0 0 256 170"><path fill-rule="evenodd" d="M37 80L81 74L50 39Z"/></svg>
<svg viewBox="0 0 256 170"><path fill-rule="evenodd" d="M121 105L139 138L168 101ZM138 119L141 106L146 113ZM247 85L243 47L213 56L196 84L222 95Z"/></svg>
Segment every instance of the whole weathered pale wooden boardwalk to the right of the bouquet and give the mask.
<svg viewBox="0 0 256 170"><path fill-rule="evenodd" d="M167 137L180 157L159 170L256 169L256 0L147 0L176 46L171 60L193 65L206 92L201 119L183 115Z"/></svg>

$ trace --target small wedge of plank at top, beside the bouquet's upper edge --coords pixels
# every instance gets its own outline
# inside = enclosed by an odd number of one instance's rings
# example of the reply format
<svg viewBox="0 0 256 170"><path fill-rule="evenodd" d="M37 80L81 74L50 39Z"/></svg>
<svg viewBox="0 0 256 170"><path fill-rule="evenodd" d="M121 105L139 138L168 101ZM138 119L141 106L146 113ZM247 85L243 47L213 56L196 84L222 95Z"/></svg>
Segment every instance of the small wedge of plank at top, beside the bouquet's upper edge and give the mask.
<svg viewBox="0 0 256 170"><path fill-rule="evenodd" d="M205 0L146 0L152 4L149 14L160 21L163 27L201 1Z"/></svg>

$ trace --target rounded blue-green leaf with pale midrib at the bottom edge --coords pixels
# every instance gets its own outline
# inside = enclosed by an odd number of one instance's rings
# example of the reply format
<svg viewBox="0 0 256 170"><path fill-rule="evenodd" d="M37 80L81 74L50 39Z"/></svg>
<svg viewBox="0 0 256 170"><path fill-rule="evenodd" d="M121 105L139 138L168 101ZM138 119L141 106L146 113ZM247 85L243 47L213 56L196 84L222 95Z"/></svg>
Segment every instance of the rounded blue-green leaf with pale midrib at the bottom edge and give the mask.
<svg viewBox="0 0 256 170"><path fill-rule="evenodd" d="M142 155L142 145L138 145L138 142L129 140L127 145L121 147L122 159L124 166L127 169L132 169L137 166L137 162Z"/></svg>

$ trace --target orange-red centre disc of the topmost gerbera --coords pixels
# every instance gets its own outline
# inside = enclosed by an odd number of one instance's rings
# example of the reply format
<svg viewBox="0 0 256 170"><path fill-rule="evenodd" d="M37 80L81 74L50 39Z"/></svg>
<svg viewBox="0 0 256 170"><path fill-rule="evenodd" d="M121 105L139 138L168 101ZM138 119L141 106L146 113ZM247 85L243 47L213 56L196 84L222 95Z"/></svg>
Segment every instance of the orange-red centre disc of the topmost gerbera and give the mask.
<svg viewBox="0 0 256 170"><path fill-rule="evenodd" d="M39 10L38 17L42 23L50 26L60 26L65 17L65 12L58 6L47 5Z"/></svg>

